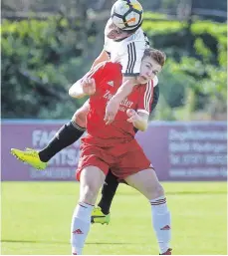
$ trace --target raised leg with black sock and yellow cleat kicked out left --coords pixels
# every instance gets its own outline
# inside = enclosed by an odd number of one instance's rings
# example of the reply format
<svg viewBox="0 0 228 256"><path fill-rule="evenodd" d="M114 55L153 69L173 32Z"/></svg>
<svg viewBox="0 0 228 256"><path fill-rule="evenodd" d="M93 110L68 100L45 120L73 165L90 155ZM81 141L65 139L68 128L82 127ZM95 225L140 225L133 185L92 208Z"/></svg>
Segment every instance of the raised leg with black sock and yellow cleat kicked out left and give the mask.
<svg viewBox="0 0 228 256"><path fill-rule="evenodd" d="M56 135L51 139L48 145L40 151L36 151L32 148L27 150L19 150L12 148L11 152L20 160L31 164L37 169L44 169L47 166L47 162L63 148L73 144L77 141L86 130L86 117L89 111L89 103L86 102L82 108L80 108L71 122L63 126L58 130Z"/></svg>

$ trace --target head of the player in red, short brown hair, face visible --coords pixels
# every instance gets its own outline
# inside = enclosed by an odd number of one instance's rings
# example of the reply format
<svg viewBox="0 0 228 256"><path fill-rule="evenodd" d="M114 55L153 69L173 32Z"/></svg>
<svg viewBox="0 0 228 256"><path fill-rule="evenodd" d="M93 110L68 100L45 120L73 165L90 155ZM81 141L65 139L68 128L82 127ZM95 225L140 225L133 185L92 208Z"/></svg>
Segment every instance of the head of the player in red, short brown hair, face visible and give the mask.
<svg viewBox="0 0 228 256"><path fill-rule="evenodd" d="M166 56L163 52L152 48L146 49L141 60L140 74L137 77L138 84L146 84L157 76L165 60Z"/></svg>

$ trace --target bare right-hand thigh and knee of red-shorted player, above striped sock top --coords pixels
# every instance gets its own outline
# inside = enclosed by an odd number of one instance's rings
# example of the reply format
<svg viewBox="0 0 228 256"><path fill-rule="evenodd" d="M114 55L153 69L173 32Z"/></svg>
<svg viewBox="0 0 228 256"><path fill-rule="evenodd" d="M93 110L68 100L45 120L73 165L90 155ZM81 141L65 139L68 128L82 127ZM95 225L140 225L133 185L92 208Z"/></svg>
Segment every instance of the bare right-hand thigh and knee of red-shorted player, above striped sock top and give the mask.
<svg viewBox="0 0 228 256"><path fill-rule="evenodd" d="M151 200L164 194L153 168L144 169L124 178L128 185L137 189L147 199Z"/></svg>

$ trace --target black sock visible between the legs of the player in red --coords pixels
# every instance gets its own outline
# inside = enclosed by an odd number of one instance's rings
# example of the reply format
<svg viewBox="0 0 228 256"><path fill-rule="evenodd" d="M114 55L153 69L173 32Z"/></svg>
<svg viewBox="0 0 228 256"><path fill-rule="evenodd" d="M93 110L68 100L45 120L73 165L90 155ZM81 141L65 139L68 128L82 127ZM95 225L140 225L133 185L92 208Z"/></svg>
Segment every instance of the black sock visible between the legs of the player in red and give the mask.
<svg viewBox="0 0 228 256"><path fill-rule="evenodd" d="M117 186L117 177L114 176L114 174L110 170L106 177L106 183L103 185L102 198L98 204L102 208L102 212L104 214L110 213L111 204L114 199L114 194L117 189Z"/></svg>

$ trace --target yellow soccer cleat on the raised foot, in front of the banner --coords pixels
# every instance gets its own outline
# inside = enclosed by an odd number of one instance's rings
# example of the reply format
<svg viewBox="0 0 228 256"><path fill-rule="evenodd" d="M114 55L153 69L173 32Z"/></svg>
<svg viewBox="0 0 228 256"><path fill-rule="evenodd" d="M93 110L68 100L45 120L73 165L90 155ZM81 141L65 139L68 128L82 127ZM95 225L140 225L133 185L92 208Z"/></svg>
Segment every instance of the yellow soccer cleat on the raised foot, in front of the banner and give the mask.
<svg viewBox="0 0 228 256"><path fill-rule="evenodd" d="M11 153L17 157L17 159L32 165L36 169L45 169L48 165L47 162L40 160L38 152L32 148L26 151L11 148Z"/></svg>

